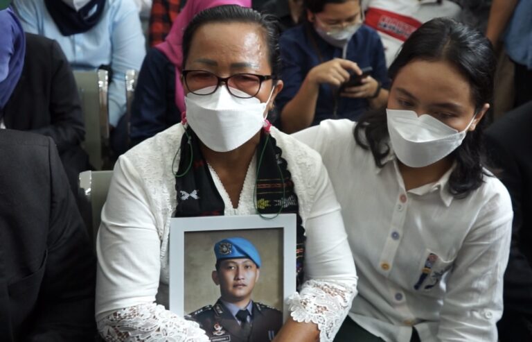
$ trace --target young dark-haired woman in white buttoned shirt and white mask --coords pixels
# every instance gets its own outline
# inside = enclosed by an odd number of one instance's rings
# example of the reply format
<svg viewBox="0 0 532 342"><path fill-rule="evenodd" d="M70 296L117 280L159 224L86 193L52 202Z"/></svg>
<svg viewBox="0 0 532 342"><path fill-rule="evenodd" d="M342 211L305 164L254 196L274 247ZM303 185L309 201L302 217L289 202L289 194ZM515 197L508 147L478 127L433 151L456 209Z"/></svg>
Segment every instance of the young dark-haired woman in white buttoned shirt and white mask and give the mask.
<svg viewBox="0 0 532 342"><path fill-rule="evenodd" d="M497 341L513 213L481 151L494 69L484 36L434 19L392 63L386 109L295 135L323 157L359 275L335 341Z"/></svg>

